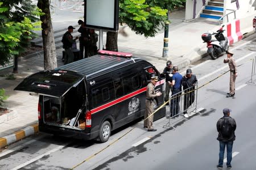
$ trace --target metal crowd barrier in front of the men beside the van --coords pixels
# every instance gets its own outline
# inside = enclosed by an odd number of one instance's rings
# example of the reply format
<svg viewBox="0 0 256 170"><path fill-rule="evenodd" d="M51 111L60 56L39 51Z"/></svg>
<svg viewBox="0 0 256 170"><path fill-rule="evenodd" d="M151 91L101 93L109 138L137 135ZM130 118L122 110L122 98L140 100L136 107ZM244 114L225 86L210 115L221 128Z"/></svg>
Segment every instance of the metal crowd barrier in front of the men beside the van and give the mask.
<svg viewBox="0 0 256 170"><path fill-rule="evenodd" d="M197 84L196 86L172 94L169 100L169 105L170 111L167 111L166 113L166 118L168 118L169 121L164 126L174 128L174 126L171 126L171 119L183 116L185 113L187 113L188 116L197 113Z"/></svg>

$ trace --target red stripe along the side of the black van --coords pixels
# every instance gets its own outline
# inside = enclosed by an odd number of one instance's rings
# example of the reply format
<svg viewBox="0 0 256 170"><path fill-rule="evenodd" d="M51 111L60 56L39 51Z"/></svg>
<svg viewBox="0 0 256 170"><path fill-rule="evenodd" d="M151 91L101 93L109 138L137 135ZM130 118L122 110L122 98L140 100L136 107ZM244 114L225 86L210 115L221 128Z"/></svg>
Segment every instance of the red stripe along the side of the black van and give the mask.
<svg viewBox="0 0 256 170"><path fill-rule="evenodd" d="M163 84L164 83L164 79L163 80L160 80L159 82L156 83L156 86L159 86L160 84ZM125 95L119 99L116 99L114 101L110 101L109 103L106 103L104 105L101 105L100 107L97 107L97 108L94 108L90 111L91 114L93 113L96 113L96 112L99 112L99 111L102 111L103 109L106 109L108 107L111 107L117 103L120 103L121 101L124 101L126 99L129 99L130 97L133 97L135 95L138 95L138 94L141 94L142 92L146 91L147 90L147 87L143 87L137 91L134 91L132 92L131 94L128 94L128 95Z"/></svg>

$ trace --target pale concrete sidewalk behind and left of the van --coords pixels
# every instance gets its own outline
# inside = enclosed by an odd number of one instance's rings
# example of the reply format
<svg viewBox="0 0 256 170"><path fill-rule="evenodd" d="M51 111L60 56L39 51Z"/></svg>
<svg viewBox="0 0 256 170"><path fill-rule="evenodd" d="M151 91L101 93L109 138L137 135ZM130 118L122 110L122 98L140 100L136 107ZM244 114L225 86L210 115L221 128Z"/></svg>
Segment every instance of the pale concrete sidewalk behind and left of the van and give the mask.
<svg viewBox="0 0 256 170"><path fill-rule="evenodd" d="M76 25L77 20L83 16L81 13L71 11L55 10L55 12L55 15L52 16L53 29L55 30L66 28L68 25ZM64 22L66 16L68 16L68 21ZM217 21L199 18L187 23L183 22L184 18L185 10L175 11L170 16L168 58L162 58L163 29L155 37L146 39L144 36L136 35L130 28L126 27L124 31L127 36L123 36L121 33L118 35L118 49L120 52L133 53L134 56L146 59L155 65L159 71L164 69L167 59L170 59L174 65L184 68L192 61L205 55L206 44L203 44L201 34L218 27ZM104 37L104 44L105 40L106 37ZM62 50L56 50L58 66L63 65L61 61ZM6 95L9 96L9 99L6 100L6 107L16 113L8 121L6 118L3 120L3 117L0 116L0 147L38 131L38 96L31 96L27 92L14 91L13 89L26 76L44 69L43 54L35 53L34 57L31 58L19 58L18 65L19 73L15 74L15 80L6 80L6 77L0 76L0 88L5 88ZM11 71L12 69L2 70L0 74L11 73Z"/></svg>

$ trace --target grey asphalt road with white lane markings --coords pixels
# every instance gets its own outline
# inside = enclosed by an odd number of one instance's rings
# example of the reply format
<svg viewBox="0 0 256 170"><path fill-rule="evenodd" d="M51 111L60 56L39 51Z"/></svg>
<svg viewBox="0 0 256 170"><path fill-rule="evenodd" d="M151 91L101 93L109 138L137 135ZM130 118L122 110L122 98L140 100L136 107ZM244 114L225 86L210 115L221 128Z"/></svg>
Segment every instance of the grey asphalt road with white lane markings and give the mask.
<svg viewBox="0 0 256 170"><path fill-rule="evenodd" d="M162 118L154 122L156 132L147 132L139 121L115 131L106 143L39 133L2 151L0 169L216 169L216 122L226 107L237 121L232 169L256 169L256 86L246 83L251 78L251 58L256 56L255 41L253 35L230 47L241 65L233 98L225 96L229 90L229 73L222 75L228 70L225 56L191 65L199 79L198 108L204 110L188 119L171 120L175 130L163 128L168 120Z"/></svg>

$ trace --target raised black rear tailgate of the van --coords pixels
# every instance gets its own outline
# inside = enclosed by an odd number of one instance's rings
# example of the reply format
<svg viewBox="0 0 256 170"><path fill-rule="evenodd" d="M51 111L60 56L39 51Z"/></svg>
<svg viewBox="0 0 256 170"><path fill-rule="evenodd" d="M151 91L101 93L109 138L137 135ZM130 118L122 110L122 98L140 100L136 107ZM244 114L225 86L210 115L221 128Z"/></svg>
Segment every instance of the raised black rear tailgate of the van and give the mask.
<svg viewBox="0 0 256 170"><path fill-rule="evenodd" d="M68 70L46 70L25 78L14 90L61 97L84 79L82 74Z"/></svg>

